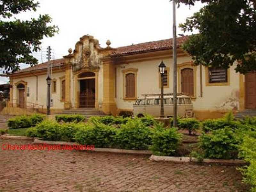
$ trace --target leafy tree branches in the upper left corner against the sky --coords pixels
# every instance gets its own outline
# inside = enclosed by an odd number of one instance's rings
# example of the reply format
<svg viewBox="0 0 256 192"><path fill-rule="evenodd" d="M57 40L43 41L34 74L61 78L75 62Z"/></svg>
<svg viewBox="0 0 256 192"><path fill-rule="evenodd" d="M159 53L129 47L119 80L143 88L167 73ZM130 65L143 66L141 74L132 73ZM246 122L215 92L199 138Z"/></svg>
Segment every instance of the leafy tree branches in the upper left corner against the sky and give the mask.
<svg viewBox="0 0 256 192"><path fill-rule="evenodd" d="M49 26L49 15L26 21L15 19L21 12L36 11L38 5L34 0L0 0L0 68L4 72L18 70L20 63L37 64L31 52L39 50L44 36L58 32L57 26Z"/></svg>

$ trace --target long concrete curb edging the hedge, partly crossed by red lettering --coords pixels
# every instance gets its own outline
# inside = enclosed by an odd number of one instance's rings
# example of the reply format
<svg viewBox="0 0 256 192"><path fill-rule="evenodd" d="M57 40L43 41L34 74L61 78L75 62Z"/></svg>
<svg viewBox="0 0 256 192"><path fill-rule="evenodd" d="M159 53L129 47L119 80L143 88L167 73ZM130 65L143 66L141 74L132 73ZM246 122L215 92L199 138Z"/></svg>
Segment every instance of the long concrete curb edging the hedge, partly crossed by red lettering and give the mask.
<svg viewBox="0 0 256 192"><path fill-rule="evenodd" d="M44 141L36 138L35 144L49 144L49 145L79 145L75 142L64 142L64 141ZM84 151L84 150L82 150ZM148 150L129 150L129 149L115 149L115 148L94 148L93 151L97 152L108 152L108 153L127 153L127 154L143 154L151 155L152 152Z"/></svg>

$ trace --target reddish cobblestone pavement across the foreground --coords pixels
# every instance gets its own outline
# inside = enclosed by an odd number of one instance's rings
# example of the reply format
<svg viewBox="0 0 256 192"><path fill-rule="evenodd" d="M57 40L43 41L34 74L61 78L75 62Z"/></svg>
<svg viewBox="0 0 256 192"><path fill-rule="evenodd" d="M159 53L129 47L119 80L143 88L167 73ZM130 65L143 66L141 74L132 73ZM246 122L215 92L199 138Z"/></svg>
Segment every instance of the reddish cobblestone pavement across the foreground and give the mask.
<svg viewBox="0 0 256 192"><path fill-rule="evenodd" d="M154 162L149 156L84 151L3 150L4 191L248 191L234 166Z"/></svg>

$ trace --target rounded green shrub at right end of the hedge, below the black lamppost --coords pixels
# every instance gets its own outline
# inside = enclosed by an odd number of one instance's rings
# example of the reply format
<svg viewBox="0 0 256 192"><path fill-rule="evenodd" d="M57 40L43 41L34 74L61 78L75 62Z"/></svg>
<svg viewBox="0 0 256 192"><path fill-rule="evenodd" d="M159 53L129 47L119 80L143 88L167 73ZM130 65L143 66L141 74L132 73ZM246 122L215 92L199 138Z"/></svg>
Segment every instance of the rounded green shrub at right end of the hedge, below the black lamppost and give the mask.
<svg viewBox="0 0 256 192"><path fill-rule="evenodd" d="M163 124L155 125L151 138L152 145L149 149L158 156L174 155L181 142L181 134L177 132L177 128L164 129Z"/></svg>

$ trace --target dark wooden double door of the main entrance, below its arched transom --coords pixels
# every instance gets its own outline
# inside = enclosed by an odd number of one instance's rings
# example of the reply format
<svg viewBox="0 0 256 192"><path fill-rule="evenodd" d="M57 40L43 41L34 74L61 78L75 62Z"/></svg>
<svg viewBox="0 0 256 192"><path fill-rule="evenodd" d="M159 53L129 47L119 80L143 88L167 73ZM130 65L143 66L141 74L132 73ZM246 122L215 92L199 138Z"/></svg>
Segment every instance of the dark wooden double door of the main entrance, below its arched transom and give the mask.
<svg viewBox="0 0 256 192"><path fill-rule="evenodd" d="M95 108L95 79L80 80L80 108Z"/></svg>

